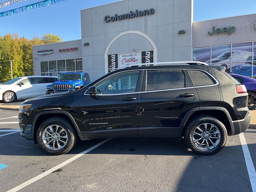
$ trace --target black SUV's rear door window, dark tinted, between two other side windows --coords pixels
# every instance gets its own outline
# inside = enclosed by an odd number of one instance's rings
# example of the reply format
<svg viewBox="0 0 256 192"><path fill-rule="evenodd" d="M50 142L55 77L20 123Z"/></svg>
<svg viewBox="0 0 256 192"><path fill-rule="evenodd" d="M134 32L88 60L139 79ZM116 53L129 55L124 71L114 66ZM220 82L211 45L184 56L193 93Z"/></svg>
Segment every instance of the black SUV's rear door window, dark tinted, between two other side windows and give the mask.
<svg viewBox="0 0 256 192"><path fill-rule="evenodd" d="M187 87L182 70L148 70L147 91L167 90Z"/></svg>

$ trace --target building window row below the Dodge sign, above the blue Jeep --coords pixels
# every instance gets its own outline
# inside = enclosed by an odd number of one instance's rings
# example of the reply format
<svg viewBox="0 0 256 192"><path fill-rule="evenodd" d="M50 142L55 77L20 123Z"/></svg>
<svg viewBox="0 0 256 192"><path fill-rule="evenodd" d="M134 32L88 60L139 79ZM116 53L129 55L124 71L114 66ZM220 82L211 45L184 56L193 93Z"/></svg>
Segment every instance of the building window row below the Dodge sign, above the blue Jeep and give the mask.
<svg viewBox="0 0 256 192"><path fill-rule="evenodd" d="M42 76L58 76L63 72L82 72L82 58L40 62Z"/></svg>

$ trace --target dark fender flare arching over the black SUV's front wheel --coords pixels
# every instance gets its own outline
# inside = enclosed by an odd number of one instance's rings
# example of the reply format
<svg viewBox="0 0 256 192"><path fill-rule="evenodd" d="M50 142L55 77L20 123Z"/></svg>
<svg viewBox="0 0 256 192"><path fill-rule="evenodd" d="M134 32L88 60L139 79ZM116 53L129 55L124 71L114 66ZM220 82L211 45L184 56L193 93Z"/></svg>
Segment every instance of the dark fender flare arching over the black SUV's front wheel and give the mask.
<svg viewBox="0 0 256 192"><path fill-rule="evenodd" d="M42 111L42 112L39 112L35 118L34 118L34 121L33 121L33 124L32 124L32 132L34 132L34 129L35 129L35 125L36 125L36 121L38 119L39 116L41 115L44 115L44 114L64 114L66 116L68 116L68 118L71 120L74 128L76 129L76 132L78 133L78 136L80 138L84 138L84 135L82 134L82 132L80 131L80 129L78 128L74 118L72 117L72 115L70 115L70 113L66 112L66 111L60 111L60 110L52 110L52 111ZM34 133L35 135L36 133Z"/></svg>

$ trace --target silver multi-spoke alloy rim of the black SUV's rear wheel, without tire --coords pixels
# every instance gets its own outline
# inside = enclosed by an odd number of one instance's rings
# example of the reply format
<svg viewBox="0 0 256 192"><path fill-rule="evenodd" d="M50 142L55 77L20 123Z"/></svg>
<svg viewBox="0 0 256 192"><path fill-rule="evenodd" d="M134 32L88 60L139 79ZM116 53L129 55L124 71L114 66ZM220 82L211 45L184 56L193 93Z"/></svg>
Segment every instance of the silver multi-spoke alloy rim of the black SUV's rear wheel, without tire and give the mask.
<svg viewBox="0 0 256 192"><path fill-rule="evenodd" d="M221 134L217 126L212 123L203 123L194 128L194 145L202 150L212 150L220 142Z"/></svg>

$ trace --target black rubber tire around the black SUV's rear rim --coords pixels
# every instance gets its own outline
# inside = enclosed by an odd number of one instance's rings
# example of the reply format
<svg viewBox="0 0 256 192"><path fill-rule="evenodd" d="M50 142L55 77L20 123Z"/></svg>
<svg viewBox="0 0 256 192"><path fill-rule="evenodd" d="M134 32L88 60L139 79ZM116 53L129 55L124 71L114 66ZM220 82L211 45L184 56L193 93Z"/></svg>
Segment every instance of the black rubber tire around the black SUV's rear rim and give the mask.
<svg viewBox="0 0 256 192"><path fill-rule="evenodd" d="M212 145L212 149L202 149L200 147L197 146L197 144L195 144L193 138L193 133L194 133L194 130L196 130L196 128L198 126L201 126L202 124L204 123L208 123L206 124L206 133L207 133L207 130L209 130L209 125L211 126L211 124L213 124L216 128L218 128L219 130L219 137L220 137L220 140L218 142L218 144L216 144L216 146L213 147ZM214 127L214 128L215 128ZM199 131L200 132L200 131ZM203 133L202 133L203 134ZM205 133L204 133L205 134ZM213 134L213 133L212 133ZM209 132L209 135L212 136L212 134L210 134ZM208 134L207 134L208 135ZM196 135L195 135L196 136ZM205 135L206 136L206 135ZM214 135L213 135L214 136ZM200 155L212 155L212 154L216 154L218 153L220 150L222 150L222 148L225 146L226 144L226 140L227 140L227 130L224 126L224 124L222 122L220 122L220 120L212 117L212 116L199 116L199 117L196 117L194 118L194 120L192 120L188 126L186 127L186 132L184 134L184 138L186 140L186 143L188 145L188 147L195 153L197 154L200 154ZM199 137L204 137L204 136L199 136ZM208 136L207 136L208 137ZM208 137L207 138L207 143L209 142L210 143L210 138ZM206 139L203 139L203 141L206 140ZM212 139L213 140L213 139ZM205 142L205 143L206 143ZM200 146L200 145L199 145ZM208 145L209 146L209 145ZM207 146L206 146L207 147Z"/></svg>

